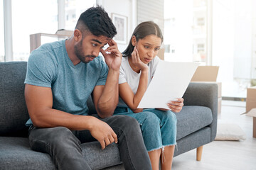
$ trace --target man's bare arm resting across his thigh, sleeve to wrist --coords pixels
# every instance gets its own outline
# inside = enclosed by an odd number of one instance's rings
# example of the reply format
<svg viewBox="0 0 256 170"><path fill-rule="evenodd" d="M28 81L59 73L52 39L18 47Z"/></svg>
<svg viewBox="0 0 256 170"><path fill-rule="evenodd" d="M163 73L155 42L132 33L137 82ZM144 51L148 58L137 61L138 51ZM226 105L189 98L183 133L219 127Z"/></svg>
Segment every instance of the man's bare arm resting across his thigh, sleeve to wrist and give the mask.
<svg viewBox="0 0 256 170"><path fill-rule="evenodd" d="M38 128L63 126L70 130L89 130L96 118L73 115L53 109L53 94L49 87L25 85L25 99L29 116Z"/></svg>

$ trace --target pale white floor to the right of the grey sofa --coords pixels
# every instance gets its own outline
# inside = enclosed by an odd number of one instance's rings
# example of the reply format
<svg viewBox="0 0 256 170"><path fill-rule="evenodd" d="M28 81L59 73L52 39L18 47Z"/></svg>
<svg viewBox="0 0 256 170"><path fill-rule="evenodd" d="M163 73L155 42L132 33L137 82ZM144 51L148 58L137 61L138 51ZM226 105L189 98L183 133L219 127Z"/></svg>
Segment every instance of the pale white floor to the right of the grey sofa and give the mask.
<svg viewBox="0 0 256 170"><path fill-rule="evenodd" d="M246 133L244 141L213 141L203 147L201 162L196 149L174 157L173 170L256 170L256 138L252 137L252 118L240 115L245 102L223 101L218 122L235 123Z"/></svg>

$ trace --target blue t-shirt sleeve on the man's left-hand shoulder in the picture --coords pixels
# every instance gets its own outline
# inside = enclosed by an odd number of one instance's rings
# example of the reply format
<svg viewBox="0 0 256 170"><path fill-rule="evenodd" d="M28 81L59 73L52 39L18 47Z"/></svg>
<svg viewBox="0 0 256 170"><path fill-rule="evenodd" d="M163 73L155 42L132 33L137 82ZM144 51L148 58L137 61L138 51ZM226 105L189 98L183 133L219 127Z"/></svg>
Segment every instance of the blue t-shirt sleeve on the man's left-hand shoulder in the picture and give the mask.
<svg viewBox="0 0 256 170"><path fill-rule="evenodd" d="M48 52L34 50L28 58L25 84L51 87L56 75L56 66Z"/></svg>

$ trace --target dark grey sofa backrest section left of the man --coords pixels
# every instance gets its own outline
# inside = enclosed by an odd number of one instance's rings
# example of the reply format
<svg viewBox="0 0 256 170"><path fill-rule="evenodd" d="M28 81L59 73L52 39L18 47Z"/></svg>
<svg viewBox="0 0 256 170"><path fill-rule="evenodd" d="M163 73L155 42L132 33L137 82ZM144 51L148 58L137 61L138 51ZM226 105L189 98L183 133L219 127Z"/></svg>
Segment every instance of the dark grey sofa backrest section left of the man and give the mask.
<svg viewBox="0 0 256 170"><path fill-rule="evenodd" d="M26 136L29 118L24 97L27 62L0 62L0 135Z"/></svg>

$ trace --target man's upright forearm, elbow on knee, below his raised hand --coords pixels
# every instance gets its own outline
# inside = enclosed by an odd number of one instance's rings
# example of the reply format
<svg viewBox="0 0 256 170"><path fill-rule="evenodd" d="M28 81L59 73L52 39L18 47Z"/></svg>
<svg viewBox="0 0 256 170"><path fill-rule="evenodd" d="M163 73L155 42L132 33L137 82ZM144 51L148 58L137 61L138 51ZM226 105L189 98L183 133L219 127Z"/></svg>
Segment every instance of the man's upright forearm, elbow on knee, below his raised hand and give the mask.
<svg viewBox="0 0 256 170"><path fill-rule="evenodd" d="M98 114L102 118L111 116L118 103L119 70L110 69L102 95L97 103Z"/></svg>

